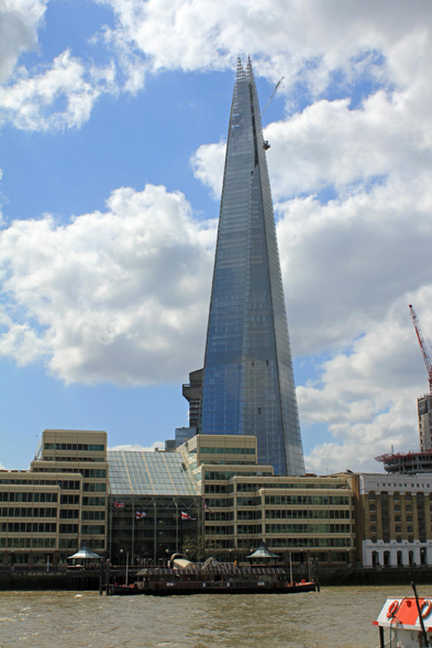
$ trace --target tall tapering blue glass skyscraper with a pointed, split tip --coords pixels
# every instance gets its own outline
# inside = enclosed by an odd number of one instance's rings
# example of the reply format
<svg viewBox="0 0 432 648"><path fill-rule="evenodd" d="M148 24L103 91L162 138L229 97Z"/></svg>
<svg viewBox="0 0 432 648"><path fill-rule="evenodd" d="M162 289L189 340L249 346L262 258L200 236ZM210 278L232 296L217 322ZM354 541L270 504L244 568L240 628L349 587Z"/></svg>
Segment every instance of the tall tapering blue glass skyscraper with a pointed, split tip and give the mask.
<svg viewBox="0 0 432 648"><path fill-rule="evenodd" d="M304 472L267 144L251 63L237 64L202 387L203 434L256 435L258 462Z"/></svg>

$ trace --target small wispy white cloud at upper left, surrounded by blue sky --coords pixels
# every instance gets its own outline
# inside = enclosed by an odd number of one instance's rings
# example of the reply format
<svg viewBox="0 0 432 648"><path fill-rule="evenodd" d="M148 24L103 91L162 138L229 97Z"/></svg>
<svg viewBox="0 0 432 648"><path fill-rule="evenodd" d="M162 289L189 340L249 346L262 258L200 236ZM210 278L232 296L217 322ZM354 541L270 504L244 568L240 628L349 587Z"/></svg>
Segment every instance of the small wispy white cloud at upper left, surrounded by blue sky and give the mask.
<svg viewBox="0 0 432 648"><path fill-rule="evenodd" d="M31 131L79 127L100 94L115 91L114 77L113 66L85 66L65 51L41 74L22 68L14 82L0 88L0 119Z"/></svg>

